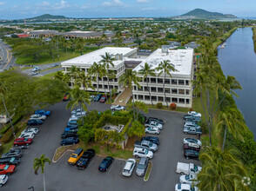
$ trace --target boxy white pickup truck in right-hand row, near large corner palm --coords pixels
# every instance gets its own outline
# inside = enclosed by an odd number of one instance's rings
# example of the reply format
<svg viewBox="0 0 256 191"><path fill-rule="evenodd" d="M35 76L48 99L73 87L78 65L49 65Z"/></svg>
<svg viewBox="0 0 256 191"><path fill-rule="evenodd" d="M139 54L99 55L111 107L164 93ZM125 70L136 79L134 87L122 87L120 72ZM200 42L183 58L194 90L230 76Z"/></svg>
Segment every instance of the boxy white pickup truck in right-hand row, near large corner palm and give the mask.
<svg viewBox="0 0 256 191"><path fill-rule="evenodd" d="M199 171L201 169L202 169L201 167L198 167L193 163L188 164L188 163L178 162L176 173L180 175L197 175L199 174Z"/></svg>

